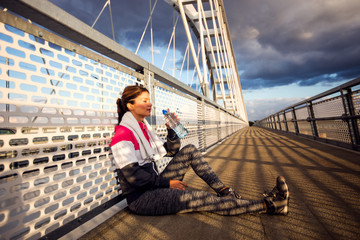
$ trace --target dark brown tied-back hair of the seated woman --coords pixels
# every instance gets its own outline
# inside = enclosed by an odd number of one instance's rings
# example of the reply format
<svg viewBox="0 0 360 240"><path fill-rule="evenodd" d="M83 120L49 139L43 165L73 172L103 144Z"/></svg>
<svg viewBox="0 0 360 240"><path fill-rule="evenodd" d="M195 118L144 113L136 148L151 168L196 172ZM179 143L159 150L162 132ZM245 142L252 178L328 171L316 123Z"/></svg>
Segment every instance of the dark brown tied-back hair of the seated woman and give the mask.
<svg viewBox="0 0 360 240"><path fill-rule="evenodd" d="M129 109L127 108L127 104L131 103L134 104L134 99L137 98L139 95L141 95L143 92L149 92L146 88L138 86L138 85L133 85L133 86L127 86L122 95L121 98L119 98L116 101L116 105L117 105L117 112L118 112L118 124L120 124L122 117L124 116L124 114L129 111Z"/></svg>

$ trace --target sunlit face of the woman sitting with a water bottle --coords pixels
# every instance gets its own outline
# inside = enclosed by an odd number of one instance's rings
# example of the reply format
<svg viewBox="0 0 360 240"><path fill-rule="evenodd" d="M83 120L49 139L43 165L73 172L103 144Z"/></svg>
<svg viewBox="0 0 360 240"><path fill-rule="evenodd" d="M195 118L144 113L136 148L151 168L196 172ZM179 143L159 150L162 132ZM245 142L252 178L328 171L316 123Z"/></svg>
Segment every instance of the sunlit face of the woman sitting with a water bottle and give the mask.
<svg viewBox="0 0 360 240"><path fill-rule="evenodd" d="M134 104L128 103L129 111L134 115L136 120L142 122L145 117L150 116L152 104L148 92L142 92L134 99Z"/></svg>

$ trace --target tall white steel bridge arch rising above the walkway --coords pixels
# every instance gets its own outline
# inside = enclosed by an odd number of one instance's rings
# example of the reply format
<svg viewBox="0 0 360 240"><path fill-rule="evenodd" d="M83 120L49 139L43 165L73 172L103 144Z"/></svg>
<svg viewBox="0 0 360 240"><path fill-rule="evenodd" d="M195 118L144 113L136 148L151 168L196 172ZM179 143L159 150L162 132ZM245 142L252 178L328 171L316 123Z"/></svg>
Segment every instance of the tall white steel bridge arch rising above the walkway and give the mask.
<svg viewBox="0 0 360 240"><path fill-rule="evenodd" d="M165 1L181 15L203 94L248 121L223 1Z"/></svg>

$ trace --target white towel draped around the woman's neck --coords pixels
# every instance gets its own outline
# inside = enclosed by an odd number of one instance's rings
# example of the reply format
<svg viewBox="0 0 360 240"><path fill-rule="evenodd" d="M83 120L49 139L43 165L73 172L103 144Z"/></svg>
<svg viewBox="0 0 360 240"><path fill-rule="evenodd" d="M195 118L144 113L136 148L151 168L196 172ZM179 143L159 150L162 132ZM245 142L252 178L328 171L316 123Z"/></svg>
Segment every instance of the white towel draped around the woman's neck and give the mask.
<svg viewBox="0 0 360 240"><path fill-rule="evenodd" d="M124 114L120 125L127 127L134 133L135 138L140 145L141 157L144 160L160 160L166 155L164 141L156 135L156 133L153 131L152 127L149 125L146 119L144 119L144 123L148 129L151 146L149 144L149 141L145 138L145 135L143 134L138 121L130 111Z"/></svg>

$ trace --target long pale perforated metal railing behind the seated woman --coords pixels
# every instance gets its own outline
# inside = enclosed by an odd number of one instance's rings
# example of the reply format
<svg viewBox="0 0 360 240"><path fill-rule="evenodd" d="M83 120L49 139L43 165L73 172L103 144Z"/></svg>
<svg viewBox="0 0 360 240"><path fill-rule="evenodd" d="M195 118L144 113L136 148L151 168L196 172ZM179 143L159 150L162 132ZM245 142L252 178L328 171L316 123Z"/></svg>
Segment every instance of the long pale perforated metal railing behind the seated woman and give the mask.
<svg viewBox="0 0 360 240"><path fill-rule="evenodd" d="M37 17L27 10L22 6ZM59 11L59 21L61 9L51 10ZM72 16L63 17L87 31ZM47 28L63 31L59 24ZM109 143L117 124L115 102L127 85L150 90L149 121L161 137L162 109L177 112L189 130L182 145L205 151L248 126L100 33L89 32L97 36L91 50L67 39L92 36L69 29L66 34L0 12L1 239L58 238L122 200ZM111 54L98 53L105 48Z"/></svg>

